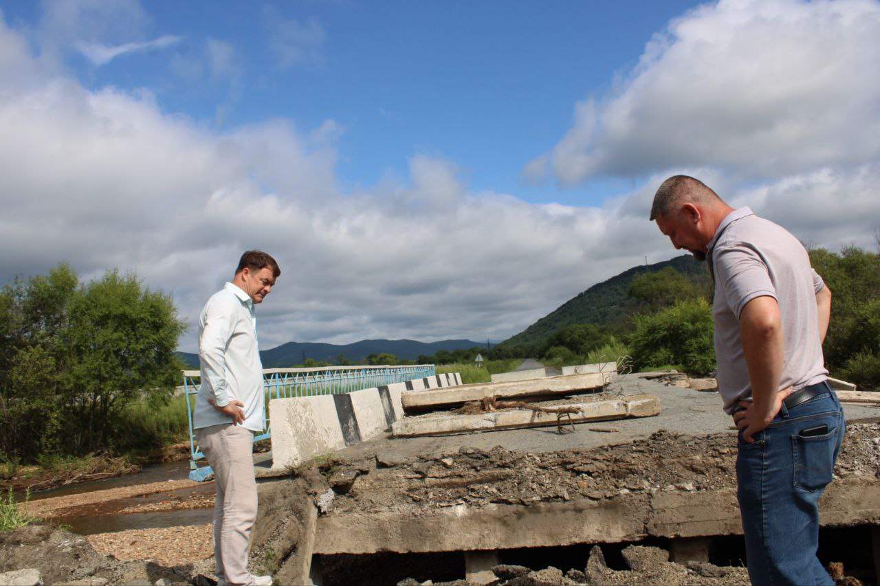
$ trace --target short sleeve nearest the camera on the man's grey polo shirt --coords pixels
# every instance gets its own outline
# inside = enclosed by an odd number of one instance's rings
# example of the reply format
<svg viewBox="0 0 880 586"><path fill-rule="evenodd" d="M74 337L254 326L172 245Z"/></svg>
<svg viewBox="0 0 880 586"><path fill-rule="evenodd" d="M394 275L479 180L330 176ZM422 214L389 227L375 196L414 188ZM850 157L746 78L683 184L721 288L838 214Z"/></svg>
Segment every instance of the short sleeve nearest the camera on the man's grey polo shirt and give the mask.
<svg viewBox="0 0 880 586"><path fill-rule="evenodd" d="M755 297L776 298L764 260L747 243L725 245L713 253L715 273L730 311L739 319L745 304Z"/></svg>

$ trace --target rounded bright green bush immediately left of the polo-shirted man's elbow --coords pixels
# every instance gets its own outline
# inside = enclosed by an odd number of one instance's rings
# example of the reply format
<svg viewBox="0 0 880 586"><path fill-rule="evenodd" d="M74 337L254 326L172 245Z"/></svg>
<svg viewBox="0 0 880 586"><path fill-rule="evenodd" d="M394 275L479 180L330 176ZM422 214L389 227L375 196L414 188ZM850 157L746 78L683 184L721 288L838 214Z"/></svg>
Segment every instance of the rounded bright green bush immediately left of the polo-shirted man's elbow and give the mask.
<svg viewBox="0 0 880 586"><path fill-rule="evenodd" d="M681 364L688 374L715 370L712 311L703 298L680 301L656 313L634 317L630 335L636 369Z"/></svg>

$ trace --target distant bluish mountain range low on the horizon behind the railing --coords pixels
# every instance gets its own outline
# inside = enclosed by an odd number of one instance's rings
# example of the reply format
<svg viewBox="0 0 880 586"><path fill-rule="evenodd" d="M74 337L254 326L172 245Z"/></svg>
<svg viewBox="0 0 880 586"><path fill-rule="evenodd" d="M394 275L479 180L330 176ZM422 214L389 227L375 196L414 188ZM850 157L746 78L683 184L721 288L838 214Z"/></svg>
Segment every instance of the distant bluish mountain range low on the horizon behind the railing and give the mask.
<svg viewBox="0 0 880 586"><path fill-rule="evenodd" d="M494 345L494 344L493 344ZM433 355L440 350L458 350L458 348L486 348L486 342L472 340L442 340L436 342L420 342L415 340L362 340L352 344L325 344L323 342L287 342L275 348L260 351L263 368L288 368L294 364L302 364L304 358L318 361L334 361L343 355L353 363L361 363L370 354L388 353L398 358L414 360L419 355ZM178 352L178 356L188 366L199 367L199 355L190 352Z"/></svg>

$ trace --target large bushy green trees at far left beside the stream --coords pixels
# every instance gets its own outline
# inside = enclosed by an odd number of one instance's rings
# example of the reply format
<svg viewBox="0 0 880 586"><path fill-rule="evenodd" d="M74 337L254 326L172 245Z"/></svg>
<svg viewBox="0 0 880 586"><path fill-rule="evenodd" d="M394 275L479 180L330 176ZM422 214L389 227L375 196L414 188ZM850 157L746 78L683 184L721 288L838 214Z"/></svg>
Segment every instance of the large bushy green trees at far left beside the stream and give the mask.
<svg viewBox="0 0 880 586"><path fill-rule="evenodd" d="M7 456L112 448L125 407L168 398L179 382L174 348L186 326L170 297L116 271L77 282L62 264L0 293L11 324L0 341L0 449Z"/></svg>

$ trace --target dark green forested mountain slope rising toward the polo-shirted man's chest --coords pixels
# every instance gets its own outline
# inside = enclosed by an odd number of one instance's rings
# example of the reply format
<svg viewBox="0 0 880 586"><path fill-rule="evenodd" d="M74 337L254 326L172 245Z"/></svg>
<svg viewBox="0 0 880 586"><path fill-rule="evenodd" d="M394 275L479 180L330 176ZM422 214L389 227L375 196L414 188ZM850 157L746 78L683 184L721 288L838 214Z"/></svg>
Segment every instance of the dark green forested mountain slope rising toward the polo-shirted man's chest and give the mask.
<svg viewBox="0 0 880 586"><path fill-rule="evenodd" d="M692 276L694 280L708 278L706 263L694 260L686 254L672 260L656 262L653 265L642 265L627 268L620 275L612 276L607 281L597 283L569 299L559 308L539 319L532 326L525 328L503 341L504 346L534 346L546 341L554 333L572 324L597 324L611 326L619 324L633 308L633 302L627 297L629 282L635 275L654 273L665 267L672 267L683 275Z"/></svg>

